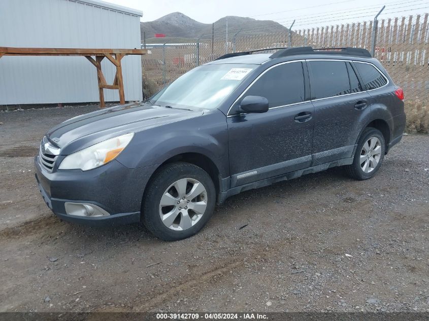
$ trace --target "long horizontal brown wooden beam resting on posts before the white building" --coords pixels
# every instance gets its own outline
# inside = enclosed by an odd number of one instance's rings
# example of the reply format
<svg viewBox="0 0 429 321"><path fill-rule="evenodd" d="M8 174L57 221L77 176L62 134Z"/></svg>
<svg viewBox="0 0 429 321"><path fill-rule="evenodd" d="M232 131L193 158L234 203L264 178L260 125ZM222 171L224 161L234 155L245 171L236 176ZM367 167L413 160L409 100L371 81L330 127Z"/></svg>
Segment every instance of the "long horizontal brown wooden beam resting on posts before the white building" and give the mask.
<svg viewBox="0 0 429 321"><path fill-rule="evenodd" d="M146 55L148 49L82 49L82 48L17 48L0 47L4 55L18 56L104 56L106 54Z"/></svg>

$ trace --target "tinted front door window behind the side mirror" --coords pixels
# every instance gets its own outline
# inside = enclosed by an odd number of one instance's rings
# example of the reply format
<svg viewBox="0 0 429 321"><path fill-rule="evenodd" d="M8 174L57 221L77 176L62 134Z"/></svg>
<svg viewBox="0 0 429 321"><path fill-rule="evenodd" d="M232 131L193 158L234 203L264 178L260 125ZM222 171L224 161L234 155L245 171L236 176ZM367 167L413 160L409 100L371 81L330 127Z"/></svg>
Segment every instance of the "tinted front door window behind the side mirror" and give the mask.
<svg viewBox="0 0 429 321"><path fill-rule="evenodd" d="M284 63L268 70L243 95L262 96L269 107L304 101L304 73L301 62Z"/></svg>

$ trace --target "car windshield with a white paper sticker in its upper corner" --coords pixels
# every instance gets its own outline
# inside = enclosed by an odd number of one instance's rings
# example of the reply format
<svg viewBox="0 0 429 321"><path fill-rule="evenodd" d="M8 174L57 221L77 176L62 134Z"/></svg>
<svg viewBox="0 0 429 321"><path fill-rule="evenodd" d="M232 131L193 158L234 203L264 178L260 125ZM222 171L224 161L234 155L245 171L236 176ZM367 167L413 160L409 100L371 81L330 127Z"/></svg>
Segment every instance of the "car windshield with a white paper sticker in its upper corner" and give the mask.
<svg viewBox="0 0 429 321"><path fill-rule="evenodd" d="M150 98L160 106L215 109L255 69L254 64L209 64L196 67Z"/></svg>

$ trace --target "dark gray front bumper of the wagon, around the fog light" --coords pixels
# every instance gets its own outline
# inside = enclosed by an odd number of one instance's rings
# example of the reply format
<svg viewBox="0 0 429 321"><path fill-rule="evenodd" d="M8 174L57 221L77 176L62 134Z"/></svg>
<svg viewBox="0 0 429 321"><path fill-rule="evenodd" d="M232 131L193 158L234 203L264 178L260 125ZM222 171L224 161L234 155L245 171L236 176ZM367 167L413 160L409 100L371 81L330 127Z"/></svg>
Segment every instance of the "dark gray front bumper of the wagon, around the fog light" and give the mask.
<svg viewBox="0 0 429 321"><path fill-rule="evenodd" d="M91 226L140 221L143 192L156 166L130 169L116 160L88 171L47 171L35 158L36 181L47 206L64 221ZM103 217L71 216L65 202L90 203L106 210Z"/></svg>

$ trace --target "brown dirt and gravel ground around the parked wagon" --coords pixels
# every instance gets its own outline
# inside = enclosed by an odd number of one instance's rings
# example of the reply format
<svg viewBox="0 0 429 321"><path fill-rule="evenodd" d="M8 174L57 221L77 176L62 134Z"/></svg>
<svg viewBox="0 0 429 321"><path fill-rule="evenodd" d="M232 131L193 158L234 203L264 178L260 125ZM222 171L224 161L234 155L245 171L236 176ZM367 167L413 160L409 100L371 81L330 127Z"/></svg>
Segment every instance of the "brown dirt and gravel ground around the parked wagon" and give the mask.
<svg viewBox="0 0 429 321"><path fill-rule="evenodd" d="M0 112L0 311L429 312L429 135L371 180L334 168L247 191L164 242L62 222L39 195L44 132L95 109Z"/></svg>

